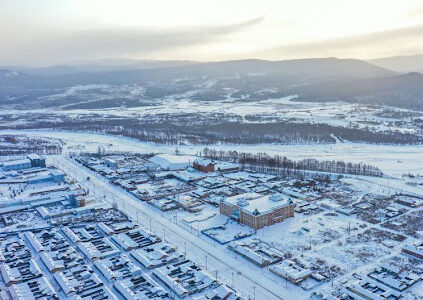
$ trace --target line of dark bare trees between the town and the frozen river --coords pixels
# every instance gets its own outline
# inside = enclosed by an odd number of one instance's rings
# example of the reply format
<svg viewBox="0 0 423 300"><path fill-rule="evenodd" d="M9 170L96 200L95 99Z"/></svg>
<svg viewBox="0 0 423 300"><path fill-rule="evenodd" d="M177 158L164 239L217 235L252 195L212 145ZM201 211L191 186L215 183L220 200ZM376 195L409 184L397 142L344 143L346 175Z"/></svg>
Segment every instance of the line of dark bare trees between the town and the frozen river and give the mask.
<svg viewBox="0 0 423 300"><path fill-rule="evenodd" d="M266 153L243 153L209 148L204 148L198 154L210 159L237 162L241 164L244 169L252 169L262 172L270 171L271 173L275 173L275 170L279 170L281 174L287 175L296 171L316 171L365 176L383 176L382 171L377 167L363 163L351 163L341 160L316 160L308 158L294 161L280 155L270 156Z"/></svg>

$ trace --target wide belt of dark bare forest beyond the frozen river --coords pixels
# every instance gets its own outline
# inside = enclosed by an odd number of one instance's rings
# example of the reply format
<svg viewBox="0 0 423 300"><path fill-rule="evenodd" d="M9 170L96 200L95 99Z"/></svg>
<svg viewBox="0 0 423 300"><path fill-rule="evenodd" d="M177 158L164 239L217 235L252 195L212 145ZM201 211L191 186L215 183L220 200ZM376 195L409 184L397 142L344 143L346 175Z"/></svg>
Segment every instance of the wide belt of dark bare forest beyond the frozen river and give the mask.
<svg viewBox="0 0 423 300"><path fill-rule="evenodd" d="M374 132L370 129L337 127L329 124L311 124L295 121L245 121L229 115L151 115L142 119L111 118L89 115L78 119L63 117L60 122L45 121L40 117L33 122L10 128L64 129L101 132L132 137L142 141L181 144L257 144L257 143L335 143L340 141L374 144L421 144L423 137L401 132Z"/></svg>

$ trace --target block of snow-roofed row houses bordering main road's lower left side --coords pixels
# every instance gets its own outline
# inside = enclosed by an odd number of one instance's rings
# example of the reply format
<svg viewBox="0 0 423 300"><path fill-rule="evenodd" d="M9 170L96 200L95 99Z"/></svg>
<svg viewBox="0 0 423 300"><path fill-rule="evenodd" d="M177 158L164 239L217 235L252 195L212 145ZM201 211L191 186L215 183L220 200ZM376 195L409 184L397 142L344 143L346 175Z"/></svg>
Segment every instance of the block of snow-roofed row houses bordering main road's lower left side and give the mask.
<svg viewBox="0 0 423 300"><path fill-rule="evenodd" d="M221 286L175 247L131 221L65 226L62 232L124 299L185 298ZM233 290L225 297L231 295L241 299Z"/></svg>

